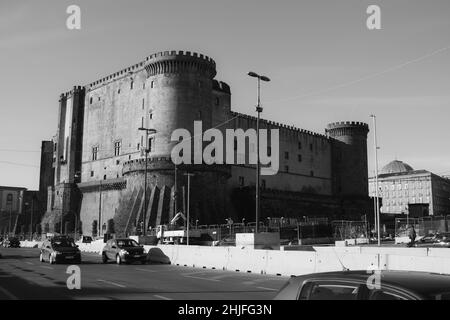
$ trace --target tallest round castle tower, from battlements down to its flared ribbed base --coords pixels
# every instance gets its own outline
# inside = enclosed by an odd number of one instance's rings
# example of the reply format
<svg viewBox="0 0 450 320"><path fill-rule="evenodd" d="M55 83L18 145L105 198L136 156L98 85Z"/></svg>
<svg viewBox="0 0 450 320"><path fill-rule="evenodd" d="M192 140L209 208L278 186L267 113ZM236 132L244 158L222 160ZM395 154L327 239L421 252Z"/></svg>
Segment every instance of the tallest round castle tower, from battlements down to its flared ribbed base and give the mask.
<svg viewBox="0 0 450 320"><path fill-rule="evenodd" d="M213 88L215 62L197 53L165 51L147 57L145 70L144 94L149 117L144 125L156 131L150 135L151 151L147 165L147 225L167 224L175 214L175 198L177 211L186 214L186 172L195 174L191 178L190 190L191 223L196 220L199 224L220 223L226 212L225 188L229 168L226 165L179 165L175 189L175 165L171 161L172 148L177 144L171 141L174 130L186 129L193 139L194 121L202 122L203 132L216 125L213 123L216 122L213 106L217 95ZM193 143L191 146L194 151ZM142 197L143 157L123 163L123 175L130 190L136 189L137 196L134 197ZM132 215L131 219L135 216Z"/></svg>

